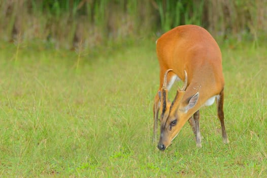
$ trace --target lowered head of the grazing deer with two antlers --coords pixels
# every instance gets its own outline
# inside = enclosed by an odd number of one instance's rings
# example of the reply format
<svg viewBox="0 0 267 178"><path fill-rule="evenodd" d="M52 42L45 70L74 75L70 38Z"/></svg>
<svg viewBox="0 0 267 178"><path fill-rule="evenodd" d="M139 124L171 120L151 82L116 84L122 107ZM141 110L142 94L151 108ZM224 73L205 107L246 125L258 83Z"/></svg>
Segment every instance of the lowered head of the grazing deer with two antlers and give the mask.
<svg viewBox="0 0 267 178"><path fill-rule="evenodd" d="M172 140L178 135L179 131L183 127L184 123L188 120L187 111L193 108L198 100L199 94L191 96L190 98L183 100L187 86L187 73L185 72L184 85L180 89L178 88L175 99L173 102L168 100L167 75L168 72L172 71L169 69L164 74L163 85L161 91L158 92L160 98L160 139L158 143L159 150L165 150ZM185 101L185 102L182 102Z"/></svg>

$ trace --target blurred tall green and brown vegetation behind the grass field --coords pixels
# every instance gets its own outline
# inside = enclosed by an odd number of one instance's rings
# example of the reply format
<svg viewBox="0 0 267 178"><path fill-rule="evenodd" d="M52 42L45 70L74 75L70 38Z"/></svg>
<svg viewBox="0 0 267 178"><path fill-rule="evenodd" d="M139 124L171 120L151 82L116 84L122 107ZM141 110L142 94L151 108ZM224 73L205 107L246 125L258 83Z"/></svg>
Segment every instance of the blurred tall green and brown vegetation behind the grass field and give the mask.
<svg viewBox="0 0 267 178"><path fill-rule="evenodd" d="M65 49L156 39L182 24L219 42L267 33L267 0L2 0L0 13L1 40Z"/></svg>

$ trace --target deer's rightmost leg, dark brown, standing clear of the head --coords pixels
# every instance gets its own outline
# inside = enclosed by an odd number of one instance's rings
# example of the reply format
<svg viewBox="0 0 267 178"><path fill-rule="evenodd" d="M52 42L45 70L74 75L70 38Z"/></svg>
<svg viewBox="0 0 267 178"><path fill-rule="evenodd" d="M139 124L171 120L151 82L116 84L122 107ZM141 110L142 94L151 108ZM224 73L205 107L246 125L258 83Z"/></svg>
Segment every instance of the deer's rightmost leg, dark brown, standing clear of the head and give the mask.
<svg viewBox="0 0 267 178"><path fill-rule="evenodd" d="M222 140L224 143L229 143L229 140L227 138L225 126L224 126L224 113L223 113L223 98L224 94L223 91L219 94L219 97L217 97L217 112L218 112L218 117L221 122L221 129L222 129Z"/></svg>

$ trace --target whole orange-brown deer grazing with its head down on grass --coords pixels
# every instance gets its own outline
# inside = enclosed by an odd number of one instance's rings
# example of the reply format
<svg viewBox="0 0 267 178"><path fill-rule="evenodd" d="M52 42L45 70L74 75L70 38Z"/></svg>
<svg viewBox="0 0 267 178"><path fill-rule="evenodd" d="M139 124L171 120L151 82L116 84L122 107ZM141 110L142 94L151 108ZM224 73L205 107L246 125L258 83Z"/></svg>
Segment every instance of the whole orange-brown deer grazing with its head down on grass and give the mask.
<svg viewBox="0 0 267 178"><path fill-rule="evenodd" d="M171 145L188 121L195 136L196 146L202 147L199 128L199 109L216 100L222 139L228 143L224 126L224 77L220 48L203 27L180 25L164 33L156 41L159 62L159 89L154 99L153 141L156 141L157 122L160 121L158 149ZM172 102L168 92L175 81L182 80ZM158 119L158 115L160 118Z"/></svg>

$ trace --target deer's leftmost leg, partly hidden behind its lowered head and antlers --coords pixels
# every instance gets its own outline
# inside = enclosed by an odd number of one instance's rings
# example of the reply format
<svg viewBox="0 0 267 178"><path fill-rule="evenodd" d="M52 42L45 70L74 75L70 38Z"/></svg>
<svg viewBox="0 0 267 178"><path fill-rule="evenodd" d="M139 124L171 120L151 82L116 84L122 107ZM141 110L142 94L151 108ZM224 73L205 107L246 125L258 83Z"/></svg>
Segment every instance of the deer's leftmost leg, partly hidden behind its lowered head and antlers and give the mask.
<svg viewBox="0 0 267 178"><path fill-rule="evenodd" d="M166 69L167 70L167 69ZM163 76L166 70L161 70L160 71L160 76L159 76L159 89L158 92L161 90L162 83L163 83ZM173 72L170 72L169 75L167 76L167 89L171 90L172 85L174 84L175 81L179 80L179 77L174 74ZM153 139L152 141L155 142L157 140L157 122L158 122L158 112L160 108L160 96L159 93L157 92L155 99L154 99L154 106L153 106L153 116L154 116L154 124L153 124Z"/></svg>

